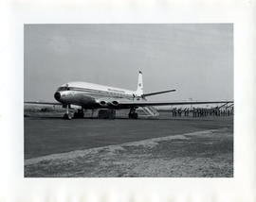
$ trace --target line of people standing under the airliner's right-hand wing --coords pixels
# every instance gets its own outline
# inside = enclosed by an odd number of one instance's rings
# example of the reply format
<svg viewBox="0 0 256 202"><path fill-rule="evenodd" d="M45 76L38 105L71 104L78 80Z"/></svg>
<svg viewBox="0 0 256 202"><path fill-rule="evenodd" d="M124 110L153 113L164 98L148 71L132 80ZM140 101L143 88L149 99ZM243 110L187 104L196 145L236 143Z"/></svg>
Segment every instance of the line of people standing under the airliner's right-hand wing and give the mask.
<svg viewBox="0 0 256 202"><path fill-rule="evenodd" d="M216 108L185 108L185 109L172 109L173 116L190 116L192 117L204 117L204 116L230 116L233 115L233 108L220 109Z"/></svg>

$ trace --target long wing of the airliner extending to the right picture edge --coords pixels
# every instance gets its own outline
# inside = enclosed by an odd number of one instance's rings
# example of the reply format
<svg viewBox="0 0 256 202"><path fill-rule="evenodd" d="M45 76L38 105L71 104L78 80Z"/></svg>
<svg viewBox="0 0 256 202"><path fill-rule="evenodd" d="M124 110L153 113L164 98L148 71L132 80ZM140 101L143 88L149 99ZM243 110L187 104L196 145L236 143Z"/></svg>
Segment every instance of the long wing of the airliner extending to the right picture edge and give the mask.
<svg viewBox="0 0 256 202"><path fill-rule="evenodd" d="M157 101L119 101L120 108L146 107L146 106L170 106L170 105L203 105L203 104L220 104L233 103L233 101L210 101L210 102L157 102Z"/></svg>

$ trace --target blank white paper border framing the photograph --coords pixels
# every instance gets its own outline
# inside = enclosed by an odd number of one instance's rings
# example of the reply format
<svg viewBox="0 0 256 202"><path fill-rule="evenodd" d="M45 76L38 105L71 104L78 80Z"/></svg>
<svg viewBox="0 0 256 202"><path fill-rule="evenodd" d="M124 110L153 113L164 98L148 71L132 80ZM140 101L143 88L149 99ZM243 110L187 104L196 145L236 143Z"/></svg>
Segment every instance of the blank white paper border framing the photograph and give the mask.
<svg viewBox="0 0 256 202"><path fill-rule="evenodd" d="M2 201L255 201L255 0L13 0L1 23ZM24 177L25 24L209 24L234 30L234 177ZM1 96L2 97L2 96Z"/></svg>

